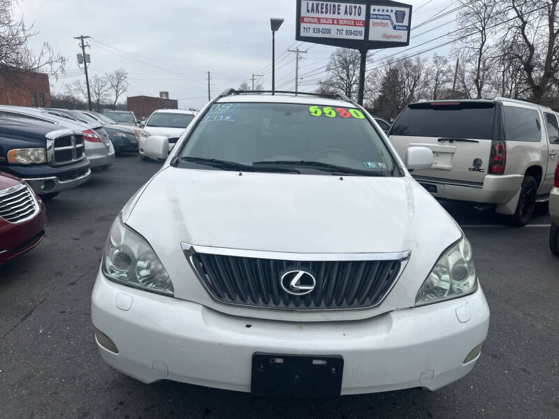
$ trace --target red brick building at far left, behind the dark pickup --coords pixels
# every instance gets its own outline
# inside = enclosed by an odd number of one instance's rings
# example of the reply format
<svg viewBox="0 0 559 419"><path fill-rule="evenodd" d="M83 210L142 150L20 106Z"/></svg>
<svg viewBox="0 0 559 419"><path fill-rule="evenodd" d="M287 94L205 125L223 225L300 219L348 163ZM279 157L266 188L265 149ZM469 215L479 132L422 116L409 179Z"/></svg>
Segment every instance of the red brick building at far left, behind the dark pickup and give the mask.
<svg viewBox="0 0 559 419"><path fill-rule="evenodd" d="M48 74L0 73L0 105L50 107L50 84Z"/></svg>

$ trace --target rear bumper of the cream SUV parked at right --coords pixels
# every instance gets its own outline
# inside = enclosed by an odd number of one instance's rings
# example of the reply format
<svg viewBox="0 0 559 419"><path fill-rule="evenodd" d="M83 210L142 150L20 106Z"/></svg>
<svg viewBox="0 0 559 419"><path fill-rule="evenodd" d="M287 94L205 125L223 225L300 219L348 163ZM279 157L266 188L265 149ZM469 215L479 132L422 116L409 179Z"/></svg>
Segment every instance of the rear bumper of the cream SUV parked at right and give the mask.
<svg viewBox="0 0 559 419"><path fill-rule="evenodd" d="M435 198L463 200L472 203L502 205L514 198L522 186L523 175L487 175L483 183L414 176ZM436 192L435 189L436 188Z"/></svg>

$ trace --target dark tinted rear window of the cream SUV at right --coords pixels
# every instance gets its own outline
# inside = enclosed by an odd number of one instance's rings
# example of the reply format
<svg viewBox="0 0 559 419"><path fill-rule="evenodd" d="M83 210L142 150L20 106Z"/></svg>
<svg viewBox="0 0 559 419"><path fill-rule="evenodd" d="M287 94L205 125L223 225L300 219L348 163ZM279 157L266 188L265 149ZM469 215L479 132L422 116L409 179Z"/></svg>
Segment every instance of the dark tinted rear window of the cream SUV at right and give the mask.
<svg viewBox="0 0 559 419"><path fill-rule="evenodd" d="M426 102L408 105L390 135L492 140L495 103Z"/></svg>

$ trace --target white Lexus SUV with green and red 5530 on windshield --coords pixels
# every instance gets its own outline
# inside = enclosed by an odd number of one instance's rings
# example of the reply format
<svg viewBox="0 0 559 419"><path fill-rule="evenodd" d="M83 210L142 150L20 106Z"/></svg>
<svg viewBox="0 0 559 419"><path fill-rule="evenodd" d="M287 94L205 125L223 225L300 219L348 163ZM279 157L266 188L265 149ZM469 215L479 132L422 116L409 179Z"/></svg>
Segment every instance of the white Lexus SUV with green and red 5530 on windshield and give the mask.
<svg viewBox="0 0 559 419"><path fill-rule="evenodd" d="M433 153L410 147L405 163ZM407 168L344 96L224 92L110 228L101 356L144 383L257 394L465 376L489 323L472 247Z"/></svg>

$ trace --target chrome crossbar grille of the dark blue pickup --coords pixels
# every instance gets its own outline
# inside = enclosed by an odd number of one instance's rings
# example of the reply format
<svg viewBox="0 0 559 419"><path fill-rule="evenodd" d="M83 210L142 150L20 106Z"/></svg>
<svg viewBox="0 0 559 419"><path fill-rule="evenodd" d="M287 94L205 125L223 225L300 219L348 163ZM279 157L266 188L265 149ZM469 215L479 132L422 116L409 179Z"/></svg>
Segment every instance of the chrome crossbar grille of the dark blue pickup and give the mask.
<svg viewBox="0 0 559 419"><path fill-rule="evenodd" d="M63 166L84 159L82 133L71 130L53 131L47 134L47 139L48 163L51 166Z"/></svg>

